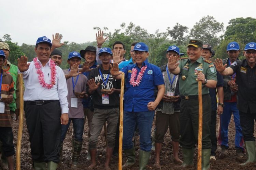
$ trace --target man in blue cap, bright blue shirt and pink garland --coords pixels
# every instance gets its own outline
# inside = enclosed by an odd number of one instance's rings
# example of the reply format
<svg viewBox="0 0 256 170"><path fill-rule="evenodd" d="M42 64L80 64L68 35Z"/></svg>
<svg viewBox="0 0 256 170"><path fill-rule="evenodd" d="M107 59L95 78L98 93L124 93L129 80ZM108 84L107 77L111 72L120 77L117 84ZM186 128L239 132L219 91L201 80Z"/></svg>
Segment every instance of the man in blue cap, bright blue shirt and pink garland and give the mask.
<svg viewBox="0 0 256 170"><path fill-rule="evenodd" d="M147 61L149 56L147 45L137 43L132 51L136 64L128 65L118 71L118 64L114 63L111 74L115 79L121 79L120 74L124 72L126 78L123 149L127 161L123 167L127 168L135 164L132 136L137 124L140 133L139 169L144 170L152 148L151 128L155 109L165 93L165 85L160 68ZM158 88L156 99L155 88Z"/></svg>

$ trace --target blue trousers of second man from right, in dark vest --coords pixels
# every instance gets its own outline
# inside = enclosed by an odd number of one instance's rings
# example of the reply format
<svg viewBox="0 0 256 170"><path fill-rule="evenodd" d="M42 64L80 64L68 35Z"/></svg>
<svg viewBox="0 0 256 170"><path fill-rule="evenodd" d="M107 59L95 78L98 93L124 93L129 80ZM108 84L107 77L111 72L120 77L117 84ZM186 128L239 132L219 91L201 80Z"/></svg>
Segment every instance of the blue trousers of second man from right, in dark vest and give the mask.
<svg viewBox="0 0 256 170"><path fill-rule="evenodd" d="M242 134L242 127L240 124L239 110L237 109L237 102L224 102L223 114L220 115L220 128L218 142L221 146L228 148L228 125L231 119L231 114L234 116L234 123L236 126L235 147L244 151L244 139Z"/></svg>

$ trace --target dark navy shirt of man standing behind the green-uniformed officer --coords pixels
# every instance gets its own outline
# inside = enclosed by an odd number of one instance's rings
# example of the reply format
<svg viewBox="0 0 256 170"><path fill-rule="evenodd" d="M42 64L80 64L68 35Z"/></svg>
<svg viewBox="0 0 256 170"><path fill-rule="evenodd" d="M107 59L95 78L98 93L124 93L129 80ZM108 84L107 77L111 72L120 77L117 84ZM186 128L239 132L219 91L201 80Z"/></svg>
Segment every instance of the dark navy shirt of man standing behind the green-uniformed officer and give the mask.
<svg viewBox="0 0 256 170"><path fill-rule="evenodd" d="M216 70L217 73L217 86L216 87L221 87L224 86L224 80L221 74ZM209 94L211 96L212 100L212 111L217 110L217 97L216 97L216 88L209 88Z"/></svg>

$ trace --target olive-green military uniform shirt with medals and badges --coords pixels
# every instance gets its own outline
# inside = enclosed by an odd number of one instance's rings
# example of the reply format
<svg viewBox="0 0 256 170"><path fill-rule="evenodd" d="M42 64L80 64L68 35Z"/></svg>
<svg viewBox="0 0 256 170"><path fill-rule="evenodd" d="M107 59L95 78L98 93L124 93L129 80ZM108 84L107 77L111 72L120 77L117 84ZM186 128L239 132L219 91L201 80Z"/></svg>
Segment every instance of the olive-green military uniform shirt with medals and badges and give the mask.
<svg viewBox="0 0 256 170"><path fill-rule="evenodd" d="M207 80L217 81L216 69L213 63L207 63L203 57L199 57L197 61L191 63L189 59L181 59L180 67L180 92L181 96L198 95L197 72L200 70ZM183 80L185 78L185 80ZM202 85L202 95L209 94L209 88Z"/></svg>

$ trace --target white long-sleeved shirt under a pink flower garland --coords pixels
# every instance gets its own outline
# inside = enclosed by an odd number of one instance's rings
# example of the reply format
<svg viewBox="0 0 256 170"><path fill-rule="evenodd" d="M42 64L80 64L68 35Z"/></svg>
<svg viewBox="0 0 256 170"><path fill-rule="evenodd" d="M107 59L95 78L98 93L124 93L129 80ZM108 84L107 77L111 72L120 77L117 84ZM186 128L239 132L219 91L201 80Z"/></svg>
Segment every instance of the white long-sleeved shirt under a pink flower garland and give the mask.
<svg viewBox="0 0 256 170"><path fill-rule="evenodd" d="M37 61L42 66L38 59ZM48 84L51 83L50 61L51 59L49 59L45 66L41 67L44 74L44 81ZM19 73L23 74L25 84L24 101L59 100L62 113L68 113L68 89L65 75L60 67L56 66L55 68L55 85L51 89L47 89L39 83L37 69L33 61L30 63L27 71L20 72L18 70Z"/></svg>

